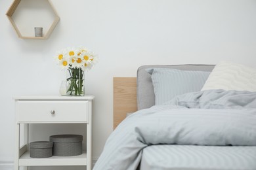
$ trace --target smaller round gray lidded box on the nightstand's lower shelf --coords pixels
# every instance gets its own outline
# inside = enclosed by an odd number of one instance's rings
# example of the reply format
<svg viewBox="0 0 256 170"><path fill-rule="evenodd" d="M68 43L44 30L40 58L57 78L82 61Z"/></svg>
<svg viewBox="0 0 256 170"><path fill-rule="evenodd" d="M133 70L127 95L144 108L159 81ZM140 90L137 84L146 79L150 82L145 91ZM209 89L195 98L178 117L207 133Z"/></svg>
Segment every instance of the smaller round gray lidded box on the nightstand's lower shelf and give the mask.
<svg viewBox="0 0 256 170"><path fill-rule="evenodd" d="M53 143L48 141L30 143L31 158L49 158L51 156L53 156Z"/></svg>

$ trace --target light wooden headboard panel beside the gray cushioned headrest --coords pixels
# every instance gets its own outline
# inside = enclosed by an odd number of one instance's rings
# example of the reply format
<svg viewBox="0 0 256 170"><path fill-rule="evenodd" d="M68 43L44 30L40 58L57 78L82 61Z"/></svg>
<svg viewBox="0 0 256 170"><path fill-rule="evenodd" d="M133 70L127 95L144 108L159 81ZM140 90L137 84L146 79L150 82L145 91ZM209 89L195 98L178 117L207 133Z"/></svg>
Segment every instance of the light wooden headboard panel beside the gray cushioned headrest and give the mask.
<svg viewBox="0 0 256 170"><path fill-rule="evenodd" d="M114 77L114 129L128 112L137 111L137 78Z"/></svg>

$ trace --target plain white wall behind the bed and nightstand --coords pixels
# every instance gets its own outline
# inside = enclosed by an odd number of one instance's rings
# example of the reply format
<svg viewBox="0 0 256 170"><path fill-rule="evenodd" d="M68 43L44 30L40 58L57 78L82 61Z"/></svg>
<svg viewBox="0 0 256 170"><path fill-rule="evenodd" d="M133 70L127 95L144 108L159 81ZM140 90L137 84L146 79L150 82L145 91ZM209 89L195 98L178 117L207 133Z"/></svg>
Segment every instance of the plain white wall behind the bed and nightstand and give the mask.
<svg viewBox="0 0 256 170"><path fill-rule="evenodd" d="M22 0L23 1L23 0ZM147 64L256 66L254 0L52 0L60 22L47 40L18 39L0 1L0 160L13 160L14 95L52 95L64 73L56 50L83 45L100 62L86 74L93 105L93 157L112 131L112 78L136 76ZM43 17L42 17L43 18ZM32 134L33 135L33 134Z"/></svg>

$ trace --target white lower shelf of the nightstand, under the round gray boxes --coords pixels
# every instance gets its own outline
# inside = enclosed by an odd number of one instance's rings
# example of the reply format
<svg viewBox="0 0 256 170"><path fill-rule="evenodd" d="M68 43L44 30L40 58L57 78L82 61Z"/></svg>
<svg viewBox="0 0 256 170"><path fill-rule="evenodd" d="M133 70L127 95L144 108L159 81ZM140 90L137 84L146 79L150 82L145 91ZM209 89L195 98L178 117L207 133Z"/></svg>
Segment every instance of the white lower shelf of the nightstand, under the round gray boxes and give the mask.
<svg viewBox="0 0 256 170"><path fill-rule="evenodd" d="M30 152L25 152L19 159L19 166L63 166L87 165L87 154L78 156L52 156L50 158L30 158Z"/></svg>

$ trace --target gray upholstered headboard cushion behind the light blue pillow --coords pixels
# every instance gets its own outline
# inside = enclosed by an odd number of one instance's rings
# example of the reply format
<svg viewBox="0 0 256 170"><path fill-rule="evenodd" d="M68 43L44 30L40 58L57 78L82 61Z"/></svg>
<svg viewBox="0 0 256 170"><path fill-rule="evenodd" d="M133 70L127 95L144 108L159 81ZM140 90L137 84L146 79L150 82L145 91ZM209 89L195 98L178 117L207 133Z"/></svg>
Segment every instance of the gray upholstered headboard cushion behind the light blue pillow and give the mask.
<svg viewBox="0 0 256 170"><path fill-rule="evenodd" d="M137 107L138 110L155 105L154 88L147 68L169 68L187 71L212 71L215 65L143 65L137 71Z"/></svg>

